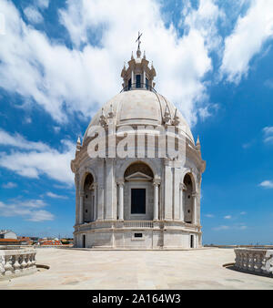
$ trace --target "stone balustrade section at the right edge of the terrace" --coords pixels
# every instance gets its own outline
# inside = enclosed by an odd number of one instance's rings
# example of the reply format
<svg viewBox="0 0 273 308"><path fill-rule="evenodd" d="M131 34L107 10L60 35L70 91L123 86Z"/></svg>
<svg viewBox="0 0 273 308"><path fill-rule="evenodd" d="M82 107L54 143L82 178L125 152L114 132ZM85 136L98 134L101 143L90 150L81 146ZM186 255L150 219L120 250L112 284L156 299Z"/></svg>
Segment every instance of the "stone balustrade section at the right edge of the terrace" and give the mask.
<svg viewBox="0 0 273 308"><path fill-rule="evenodd" d="M273 250L236 248L235 267L240 271L273 276Z"/></svg>

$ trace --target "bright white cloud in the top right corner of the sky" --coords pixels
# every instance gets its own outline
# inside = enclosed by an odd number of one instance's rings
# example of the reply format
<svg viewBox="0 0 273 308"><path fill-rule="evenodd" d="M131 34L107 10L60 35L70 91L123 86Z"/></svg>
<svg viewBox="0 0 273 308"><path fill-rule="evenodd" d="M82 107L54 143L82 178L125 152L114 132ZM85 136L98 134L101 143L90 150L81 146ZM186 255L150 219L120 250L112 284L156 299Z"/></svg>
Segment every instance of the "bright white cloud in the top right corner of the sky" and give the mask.
<svg viewBox="0 0 273 308"><path fill-rule="evenodd" d="M233 33L225 40L221 66L227 80L238 83L248 74L249 62L273 36L273 2L252 0L248 12L239 16Z"/></svg>

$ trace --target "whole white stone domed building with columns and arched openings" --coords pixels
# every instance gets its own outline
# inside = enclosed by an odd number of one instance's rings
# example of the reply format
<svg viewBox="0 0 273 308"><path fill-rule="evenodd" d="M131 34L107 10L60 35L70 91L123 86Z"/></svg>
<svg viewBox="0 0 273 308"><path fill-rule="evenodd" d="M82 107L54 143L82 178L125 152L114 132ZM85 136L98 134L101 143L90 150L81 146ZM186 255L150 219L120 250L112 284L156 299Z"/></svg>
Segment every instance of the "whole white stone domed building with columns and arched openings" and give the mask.
<svg viewBox="0 0 273 308"><path fill-rule="evenodd" d="M132 54L121 72L123 90L98 110L83 143L77 141L76 158L71 161L76 183L75 247L202 246L200 189L206 162L185 118L154 89L156 70L148 64L138 45L136 58ZM101 153L104 138L92 135L93 128L103 128L108 137L104 157L90 156L94 144ZM166 142L160 143L157 134L152 139L153 129L168 128L179 131L177 139L184 139L177 158L160 156ZM136 133L137 141L130 139ZM116 155L117 149L126 155ZM155 156L148 155L153 152Z"/></svg>

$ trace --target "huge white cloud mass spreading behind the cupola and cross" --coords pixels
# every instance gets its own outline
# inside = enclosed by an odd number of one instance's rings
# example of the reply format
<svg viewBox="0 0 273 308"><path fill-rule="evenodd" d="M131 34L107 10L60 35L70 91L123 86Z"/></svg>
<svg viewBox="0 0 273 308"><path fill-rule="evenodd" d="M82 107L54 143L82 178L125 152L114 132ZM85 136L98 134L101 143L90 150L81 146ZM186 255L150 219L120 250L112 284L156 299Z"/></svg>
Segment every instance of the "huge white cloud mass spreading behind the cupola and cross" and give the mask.
<svg viewBox="0 0 273 308"><path fill-rule="evenodd" d="M0 87L31 98L59 122L67 120L65 105L68 115L80 111L89 117L121 88L123 62L136 50L135 36L141 30L142 48L157 69L157 90L194 124L198 108L207 105L203 79L212 69L209 36L216 36L208 25L218 18L216 5L201 4L187 22L187 35L180 37L174 26L165 26L153 0L141 5L68 0L59 14L74 44L69 49L26 26L15 6L2 0L6 35L0 36ZM98 46L88 43L90 36Z"/></svg>

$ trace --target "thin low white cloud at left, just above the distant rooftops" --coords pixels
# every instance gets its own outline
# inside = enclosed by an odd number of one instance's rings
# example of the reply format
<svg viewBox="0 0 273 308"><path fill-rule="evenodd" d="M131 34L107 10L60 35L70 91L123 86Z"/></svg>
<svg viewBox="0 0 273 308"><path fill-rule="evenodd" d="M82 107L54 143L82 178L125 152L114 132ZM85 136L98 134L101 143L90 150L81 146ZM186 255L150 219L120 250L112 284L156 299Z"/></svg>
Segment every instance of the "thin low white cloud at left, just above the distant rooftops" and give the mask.
<svg viewBox="0 0 273 308"><path fill-rule="evenodd" d="M25 221L53 221L55 217L52 213L40 210L45 205L43 200L15 200L11 203L0 201L0 216L21 216Z"/></svg>

